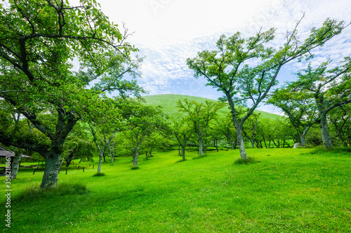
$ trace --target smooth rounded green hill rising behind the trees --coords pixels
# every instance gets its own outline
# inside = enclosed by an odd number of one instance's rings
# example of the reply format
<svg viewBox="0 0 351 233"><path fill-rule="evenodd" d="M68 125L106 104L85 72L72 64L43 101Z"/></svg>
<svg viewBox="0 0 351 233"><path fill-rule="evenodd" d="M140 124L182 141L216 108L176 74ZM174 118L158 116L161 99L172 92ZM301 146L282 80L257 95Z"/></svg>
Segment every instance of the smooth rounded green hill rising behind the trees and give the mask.
<svg viewBox="0 0 351 233"><path fill-rule="evenodd" d="M197 101L199 103L202 103L205 100L216 101L213 99L206 99L203 97L192 97L192 96L182 95L182 94L155 94L155 95L145 96L144 99L147 101L148 104L155 105L155 106L159 105L159 106L164 107L164 111L168 115L173 115L174 113L176 113L176 111L177 111L176 102L178 101L178 99L181 99L182 101L184 99L189 99L189 100ZM223 108L220 111L220 113L222 113L222 114L225 114L227 112L230 112L229 106L226 108ZM269 118L272 120L282 117L282 116L277 115L277 114L267 113L267 112L259 111L259 110L256 110L255 113L260 113L261 118Z"/></svg>

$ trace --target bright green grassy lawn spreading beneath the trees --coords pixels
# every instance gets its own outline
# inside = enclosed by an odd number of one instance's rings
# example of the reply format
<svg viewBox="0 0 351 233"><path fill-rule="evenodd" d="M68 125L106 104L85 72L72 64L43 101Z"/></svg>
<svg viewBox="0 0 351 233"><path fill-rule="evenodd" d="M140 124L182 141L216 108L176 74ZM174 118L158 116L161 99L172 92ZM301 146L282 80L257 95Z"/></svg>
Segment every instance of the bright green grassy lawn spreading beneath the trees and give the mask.
<svg viewBox="0 0 351 233"><path fill-rule="evenodd" d="M59 174L58 190L38 192L43 171L22 168L12 181L11 229L4 232L350 232L350 153L248 149L187 161L158 152L131 170L131 157ZM4 183L5 178L1 177ZM83 184L83 185L79 185ZM86 185L86 190L84 190ZM4 185L1 215L5 213ZM83 188L81 188L83 187ZM29 190L29 191L25 191ZM4 217L3 217L4 218Z"/></svg>

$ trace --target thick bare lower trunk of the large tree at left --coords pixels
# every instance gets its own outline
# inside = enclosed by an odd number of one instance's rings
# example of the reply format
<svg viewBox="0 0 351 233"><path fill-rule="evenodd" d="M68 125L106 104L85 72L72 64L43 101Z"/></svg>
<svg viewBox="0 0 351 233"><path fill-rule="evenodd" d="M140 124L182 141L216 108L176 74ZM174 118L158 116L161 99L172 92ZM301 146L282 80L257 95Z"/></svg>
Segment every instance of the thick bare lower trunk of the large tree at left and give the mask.
<svg viewBox="0 0 351 233"><path fill-rule="evenodd" d="M60 171L61 152L51 148L46 156L45 170L40 188L55 188L58 183L58 172Z"/></svg>

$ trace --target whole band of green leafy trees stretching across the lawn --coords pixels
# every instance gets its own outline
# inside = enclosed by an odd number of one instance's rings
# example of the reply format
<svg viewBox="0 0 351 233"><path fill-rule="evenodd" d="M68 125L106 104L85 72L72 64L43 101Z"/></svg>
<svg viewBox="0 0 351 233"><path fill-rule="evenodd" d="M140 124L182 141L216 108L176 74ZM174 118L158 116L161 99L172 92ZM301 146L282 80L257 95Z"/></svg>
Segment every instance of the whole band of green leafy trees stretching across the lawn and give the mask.
<svg viewBox="0 0 351 233"><path fill-rule="evenodd" d="M219 131L226 132L228 143L239 148L243 159L248 159L245 138L251 146L267 143L270 146L271 141L276 146L289 144L288 138L274 141L270 134L262 135L265 139L258 141L260 124L254 114L277 86L282 66L293 60L313 59L314 48L321 47L348 26L328 18L322 27L312 28L310 35L300 41L300 21L287 31L286 42L279 48L272 45L276 29L260 30L249 38L237 32L228 38L220 36L217 50L204 50L187 59L195 78L205 78L207 85L223 93L220 100L230 107L230 117L225 120L229 120L228 125L234 125L235 133L225 131L224 125ZM69 157L85 150L89 156L91 143L84 140L87 135L91 135L100 155L99 172L106 151L115 155L119 144L113 142L121 134L128 140L126 150L133 156L134 167L138 165L143 142L148 141L149 148L154 148L160 141L157 135L164 137L172 129L178 130L179 139L174 135L182 153L187 141L192 140L202 155L201 148L215 128L210 123L224 104L178 102L183 116L173 120L170 129L160 108L131 99L140 99L140 94L145 93L136 83L143 58L134 55L138 48L128 43L128 29L110 22L97 1L81 0L79 6L71 6L64 0L9 0L8 7L0 4L0 27L0 142L44 157L46 167L41 188L57 184L64 161L62 155L69 155L65 157L69 161ZM79 67L74 67L76 60ZM284 101L291 102L290 112L286 112L291 115L289 119L296 114L298 117L301 106L298 101L303 99L307 105L311 104L306 111L300 110L302 120L291 120L291 124L299 125L294 127L300 133L317 122L326 148L333 145L328 130L331 113L343 115L345 124L340 118L332 124L338 128L338 139L347 138L347 104L351 101L350 59L346 57L342 65L332 68L330 63L317 68L308 66L298 72L298 81L286 83L274 91L277 98L271 99L272 104L282 109ZM242 110L240 106L247 108ZM250 129L246 129L247 125L251 125ZM192 136L185 133L190 129ZM218 145L220 137L213 140L213 145ZM146 155L152 156L152 149Z"/></svg>

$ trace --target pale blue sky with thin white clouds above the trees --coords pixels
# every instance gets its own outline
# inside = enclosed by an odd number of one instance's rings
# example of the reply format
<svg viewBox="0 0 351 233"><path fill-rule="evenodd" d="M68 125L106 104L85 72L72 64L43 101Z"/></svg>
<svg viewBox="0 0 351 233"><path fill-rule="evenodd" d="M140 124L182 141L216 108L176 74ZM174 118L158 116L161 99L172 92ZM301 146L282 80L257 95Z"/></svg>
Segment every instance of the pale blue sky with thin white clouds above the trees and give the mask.
<svg viewBox="0 0 351 233"><path fill-rule="evenodd" d="M72 0L69 2L72 2ZM279 1L279 0L97 0L102 12L114 23L126 24L133 35L128 41L145 57L138 79L149 94L187 94L218 99L222 94L205 87L204 78L195 79L186 59L202 50L215 49L220 35L240 31L246 38L262 30L277 28L275 45L283 43L284 33L298 27L301 39L312 27L321 27L327 17L351 22L350 0ZM122 28L122 27L121 27ZM314 50L314 65L326 59L340 62L351 55L351 26L342 34ZM279 73L282 84L293 80L303 64L291 62ZM279 112L261 104L260 110Z"/></svg>

